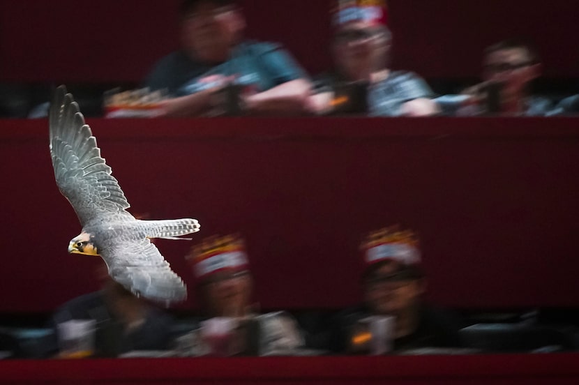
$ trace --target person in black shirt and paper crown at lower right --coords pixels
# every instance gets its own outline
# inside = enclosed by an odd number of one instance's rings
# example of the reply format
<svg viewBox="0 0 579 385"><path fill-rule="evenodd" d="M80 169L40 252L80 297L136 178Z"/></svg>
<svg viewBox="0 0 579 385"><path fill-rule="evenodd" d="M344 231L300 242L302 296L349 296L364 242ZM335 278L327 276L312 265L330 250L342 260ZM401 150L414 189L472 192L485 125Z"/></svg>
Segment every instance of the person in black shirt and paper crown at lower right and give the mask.
<svg viewBox="0 0 579 385"><path fill-rule="evenodd" d="M394 317L395 352L463 346L458 333L460 322L422 299L426 278L413 232L398 227L381 229L369 234L361 249L366 266L361 280L365 303L338 315L329 342L333 351L365 352L352 331L372 315Z"/></svg>

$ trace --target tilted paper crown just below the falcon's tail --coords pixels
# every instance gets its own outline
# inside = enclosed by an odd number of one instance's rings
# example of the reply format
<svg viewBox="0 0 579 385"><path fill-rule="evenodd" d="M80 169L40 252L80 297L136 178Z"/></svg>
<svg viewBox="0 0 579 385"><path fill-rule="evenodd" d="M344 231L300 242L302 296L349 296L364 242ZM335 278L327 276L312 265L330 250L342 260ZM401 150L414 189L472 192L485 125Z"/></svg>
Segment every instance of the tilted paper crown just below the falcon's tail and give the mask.
<svg viewBox="0 0 579 385"><path fill-rule="evenodd" d="M249 269L245 241L238 234L211 236L193 246L188 255L197 278L220 271Z"/></svg>

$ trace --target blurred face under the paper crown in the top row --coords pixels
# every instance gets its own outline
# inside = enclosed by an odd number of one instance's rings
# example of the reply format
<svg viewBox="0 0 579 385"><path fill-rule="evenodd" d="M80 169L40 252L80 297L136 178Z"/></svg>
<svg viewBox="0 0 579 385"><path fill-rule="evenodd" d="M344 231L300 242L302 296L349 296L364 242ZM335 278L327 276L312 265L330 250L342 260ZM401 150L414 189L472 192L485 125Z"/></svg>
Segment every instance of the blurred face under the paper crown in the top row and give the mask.
<svg viewBox="0 0 579 385"><path fill-rule="evenodd" d="M389 39L379 27L352 22L334 36L333 56L338 70L349 80L363 80L386 67Z"/></svg>

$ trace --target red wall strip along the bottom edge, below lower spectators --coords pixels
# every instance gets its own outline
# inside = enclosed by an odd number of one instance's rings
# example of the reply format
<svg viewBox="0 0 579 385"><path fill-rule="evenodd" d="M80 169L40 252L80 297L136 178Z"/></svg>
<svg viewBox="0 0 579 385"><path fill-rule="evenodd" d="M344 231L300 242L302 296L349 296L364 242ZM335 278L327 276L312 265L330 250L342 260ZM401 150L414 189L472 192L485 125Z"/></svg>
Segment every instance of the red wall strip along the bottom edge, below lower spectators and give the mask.
<svg viewBox="0 0 579 385"><path fill-rule="evenodd" d="M577 353L6 360L8 384L574 385Z"/></svg>

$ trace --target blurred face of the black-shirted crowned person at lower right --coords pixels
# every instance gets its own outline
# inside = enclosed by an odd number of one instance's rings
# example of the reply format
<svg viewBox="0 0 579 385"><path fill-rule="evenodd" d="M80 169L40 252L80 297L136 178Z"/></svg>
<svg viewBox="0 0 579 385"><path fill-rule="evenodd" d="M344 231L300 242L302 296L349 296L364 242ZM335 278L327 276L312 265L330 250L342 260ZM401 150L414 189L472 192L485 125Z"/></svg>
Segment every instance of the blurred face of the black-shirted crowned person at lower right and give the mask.
<svg viewBox="0 0 579 385"><path fill-rule="evenodd" d="M414 308L424 292L420 279L393 280L396 264L385 264L366 280L366 303L375 314L396 315Z"/></svg>

